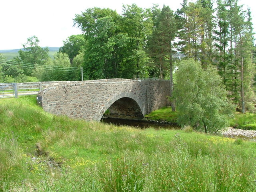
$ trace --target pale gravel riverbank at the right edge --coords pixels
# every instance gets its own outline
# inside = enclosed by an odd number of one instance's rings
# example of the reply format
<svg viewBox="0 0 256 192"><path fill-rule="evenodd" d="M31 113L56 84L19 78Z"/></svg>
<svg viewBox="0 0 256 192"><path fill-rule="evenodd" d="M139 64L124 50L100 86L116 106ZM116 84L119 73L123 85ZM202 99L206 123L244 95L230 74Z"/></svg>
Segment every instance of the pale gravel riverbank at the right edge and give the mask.
<svg viewBox="0 0 256 192"><path fill-rule="evenodd" d="M228 127L227 129L222 130L221 134L227 137L234 138L235 136L243 136L247 138L256 138L255 130L243 130L243 129L235 129L232 127Z"/></svg>

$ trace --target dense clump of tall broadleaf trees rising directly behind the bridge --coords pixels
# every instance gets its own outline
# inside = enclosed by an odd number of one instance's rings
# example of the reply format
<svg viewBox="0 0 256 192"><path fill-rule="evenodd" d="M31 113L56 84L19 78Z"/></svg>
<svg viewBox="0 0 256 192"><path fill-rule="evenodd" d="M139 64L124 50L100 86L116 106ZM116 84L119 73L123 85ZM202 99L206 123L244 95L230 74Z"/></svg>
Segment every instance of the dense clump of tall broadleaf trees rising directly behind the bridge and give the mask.
<svg viewBox="0 0 256 192"><path fill-rule="evenodd" d="M85 34L84 78L148 76L149 57L144 50L148 14L135 4L124 6L123 16L110 9L89 8L74 22Z"/></svg>

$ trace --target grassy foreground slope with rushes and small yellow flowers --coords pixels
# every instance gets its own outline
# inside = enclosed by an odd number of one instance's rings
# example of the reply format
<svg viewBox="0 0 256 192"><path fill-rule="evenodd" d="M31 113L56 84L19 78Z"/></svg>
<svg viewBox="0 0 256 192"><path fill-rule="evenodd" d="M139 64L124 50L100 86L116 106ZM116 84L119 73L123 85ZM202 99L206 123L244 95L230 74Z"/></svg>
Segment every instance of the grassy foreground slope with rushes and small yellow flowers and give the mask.
<svg viewBox="0 0 256 192"><path fill-rule="evenodd" d="M0 149L0 191L256 188L256 143L70 120L34 97L0 100Z"/></svg>

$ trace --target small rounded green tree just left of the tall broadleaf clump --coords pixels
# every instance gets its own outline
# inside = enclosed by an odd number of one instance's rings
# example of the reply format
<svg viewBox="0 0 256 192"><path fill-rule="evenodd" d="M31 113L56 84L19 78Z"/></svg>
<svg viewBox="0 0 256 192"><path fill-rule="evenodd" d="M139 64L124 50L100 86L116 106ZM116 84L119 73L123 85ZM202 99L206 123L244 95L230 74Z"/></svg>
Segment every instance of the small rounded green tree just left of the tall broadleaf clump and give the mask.
<svg viewBox="0 0 256 192"><path fill-rule="evenodd" d="M84 45L84 35L71 35L66 39L66 41L63 41L63 46L59 51L68 54L70 62L72 63L72 60L79 53L79 51L83 49Z"/></svg>

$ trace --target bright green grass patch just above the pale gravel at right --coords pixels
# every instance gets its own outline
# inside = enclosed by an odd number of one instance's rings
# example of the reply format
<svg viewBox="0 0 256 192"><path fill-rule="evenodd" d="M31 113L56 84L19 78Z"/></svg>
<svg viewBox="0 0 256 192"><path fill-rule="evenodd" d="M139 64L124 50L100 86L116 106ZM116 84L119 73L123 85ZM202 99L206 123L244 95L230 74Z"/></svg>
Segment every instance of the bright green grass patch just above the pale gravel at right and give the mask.
<svg viewBox="0 0 256 192"><path fill-rule="evenodd" d="M230 121L230 126L239 129L256 130L256 114L238 112L235 114L235 118Z"/></svg>

